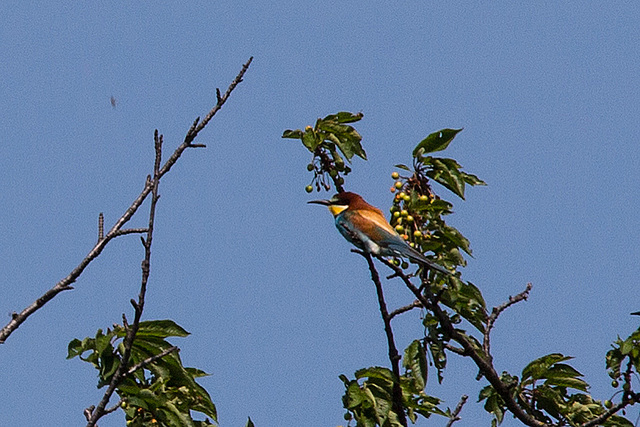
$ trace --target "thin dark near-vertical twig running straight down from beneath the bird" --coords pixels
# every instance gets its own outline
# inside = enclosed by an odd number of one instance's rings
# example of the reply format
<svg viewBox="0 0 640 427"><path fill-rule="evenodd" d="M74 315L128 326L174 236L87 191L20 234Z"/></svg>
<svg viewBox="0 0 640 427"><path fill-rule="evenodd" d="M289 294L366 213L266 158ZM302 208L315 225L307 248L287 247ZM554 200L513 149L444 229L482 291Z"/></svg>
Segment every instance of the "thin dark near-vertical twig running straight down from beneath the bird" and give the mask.
<svg viewBox="0 0 640 427"><path fill-rule="evenodd" d="M380 306L380 314L384 322L384 332L387 335L387 345L389 346L389 361L391 362L391 370L393 371L393 412L398 416L398 421L403 426L407 426L407 418L404 412L404 404L402 403L402 388L400 387L400 354L396 348L395 341L393 339L393 330L391 329L391 316L387 311L387 304L384 300L384 294L382 291L382 283L380 282L380 275L373 264L373 258L368 252L357 251L362 255L369 265L369 271L371 272L371 280L376 285L376 293L378 294L378 305Z"/></svg>

